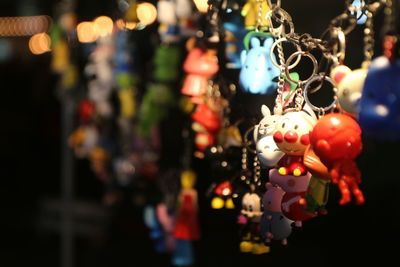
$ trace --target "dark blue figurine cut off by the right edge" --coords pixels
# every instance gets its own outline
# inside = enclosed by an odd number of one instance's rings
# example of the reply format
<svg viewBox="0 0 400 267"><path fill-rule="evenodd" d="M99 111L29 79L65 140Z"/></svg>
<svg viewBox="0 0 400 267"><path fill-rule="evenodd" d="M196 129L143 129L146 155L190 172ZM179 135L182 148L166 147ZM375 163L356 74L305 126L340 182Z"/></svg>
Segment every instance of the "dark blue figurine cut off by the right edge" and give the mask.
<svg viewBox="0 0 400 267"><path fill-rule="evenodd" d="M400 60L376 58L364 83L359 124L366 135L400 139Z"/></svg>

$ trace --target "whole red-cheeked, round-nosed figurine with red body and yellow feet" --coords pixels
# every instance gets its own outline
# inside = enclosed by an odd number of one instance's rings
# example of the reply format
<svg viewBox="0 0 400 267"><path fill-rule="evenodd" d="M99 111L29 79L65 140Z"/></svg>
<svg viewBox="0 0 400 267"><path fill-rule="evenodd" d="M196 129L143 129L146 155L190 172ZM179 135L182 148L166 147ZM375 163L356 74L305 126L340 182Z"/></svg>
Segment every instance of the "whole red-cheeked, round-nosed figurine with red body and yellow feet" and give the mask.
<svg viewBox="0 0 400 267"><path fill-rule="evenodd" d="M310 144L309 133L315 123L315 114L307 105L301 111L289 111L280 117L273 135L276 145L285 153L278 162L280 175L307 174L303 155Z"/></svg>

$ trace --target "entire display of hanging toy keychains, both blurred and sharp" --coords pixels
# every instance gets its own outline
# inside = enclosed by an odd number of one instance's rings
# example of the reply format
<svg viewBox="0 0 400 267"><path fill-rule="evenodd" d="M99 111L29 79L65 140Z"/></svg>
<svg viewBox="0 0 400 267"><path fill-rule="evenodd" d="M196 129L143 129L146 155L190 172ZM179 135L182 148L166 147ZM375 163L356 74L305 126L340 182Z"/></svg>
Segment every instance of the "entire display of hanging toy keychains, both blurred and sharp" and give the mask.
<svg viewBox="0 0 400 267"><path fill-rule="evenodd" d="M121 19L87 53L69 143L104 183L106 204L134 188L155 249L170 253L175 266L195 262L199 194L212 209L237 211L241 252L269 253L327 214L332 186L340 205L366 201L356 163L362 134L400 139L400 4L346 0L315 37L296 32L284 2L159 0L147 10L156 14L157 37L141 72L139 32L150 23L139 12L143 3L121 0ZM363 28L363 61L352 70L344 62L356 27ZM375 31L384 36L377 57ZM244 95L272 105L243 117ZM175 156L163 157L169 140L161 125L176 110L182 142ZM170 157L172 167L160 165ZM207 192L196 189L195 161L210 169Z"/></svg>

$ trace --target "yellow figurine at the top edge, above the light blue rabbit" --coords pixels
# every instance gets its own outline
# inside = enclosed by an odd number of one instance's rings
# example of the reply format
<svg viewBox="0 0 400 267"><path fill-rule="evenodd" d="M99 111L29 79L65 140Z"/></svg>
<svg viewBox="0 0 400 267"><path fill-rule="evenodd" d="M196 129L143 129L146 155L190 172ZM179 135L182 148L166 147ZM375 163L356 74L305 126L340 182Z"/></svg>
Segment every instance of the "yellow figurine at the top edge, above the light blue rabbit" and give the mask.
<svg viewBox="0 0 400 267"><path fill-rule="evenodd" d="M266 19L266 14L270 10L267 1L259 0L248 0L244 4L242 9L242 16L244 17L244 25L247 30L254 30L257 25L258 12L260 10L259 5L261 5L261 25L263 27L268 27L268 20Z"/></svg>

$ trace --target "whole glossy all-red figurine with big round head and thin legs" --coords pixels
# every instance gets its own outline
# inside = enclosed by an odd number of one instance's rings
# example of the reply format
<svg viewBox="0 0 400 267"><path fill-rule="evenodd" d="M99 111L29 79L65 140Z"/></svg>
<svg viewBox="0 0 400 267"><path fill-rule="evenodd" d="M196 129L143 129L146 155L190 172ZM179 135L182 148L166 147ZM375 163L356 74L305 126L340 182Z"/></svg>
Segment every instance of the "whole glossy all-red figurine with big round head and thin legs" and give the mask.
<svg viewBox="0 0 400 267"><path fill-rule="evenodd" d="M339 186L341 205L351 201L364 203L359 189L361 173L354 159L361 153L361 129L350 116L331 113L323 116L310 133L310 144L321 162L328 168L334 184Z"/></svg>

